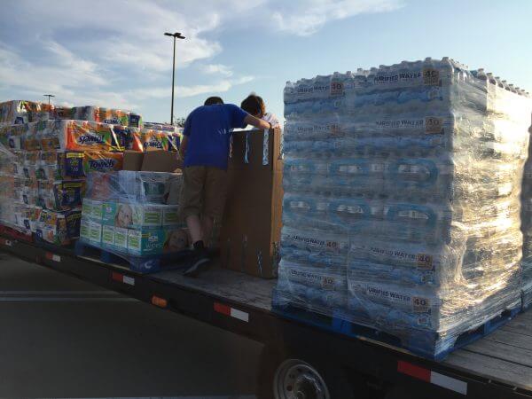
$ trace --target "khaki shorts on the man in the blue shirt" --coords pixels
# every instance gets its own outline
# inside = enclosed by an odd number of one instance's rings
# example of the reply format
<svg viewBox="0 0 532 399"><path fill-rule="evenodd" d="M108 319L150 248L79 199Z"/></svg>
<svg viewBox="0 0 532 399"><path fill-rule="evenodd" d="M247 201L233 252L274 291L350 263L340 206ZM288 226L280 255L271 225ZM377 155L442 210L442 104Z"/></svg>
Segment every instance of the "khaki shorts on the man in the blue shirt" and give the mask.
<svg viewBox="0 0 532 399"><path fill-rule="evenodd" d="M210 216L219 220L223 215L227 194L227 171L205 166L183 169L181 216Z"/></svg>

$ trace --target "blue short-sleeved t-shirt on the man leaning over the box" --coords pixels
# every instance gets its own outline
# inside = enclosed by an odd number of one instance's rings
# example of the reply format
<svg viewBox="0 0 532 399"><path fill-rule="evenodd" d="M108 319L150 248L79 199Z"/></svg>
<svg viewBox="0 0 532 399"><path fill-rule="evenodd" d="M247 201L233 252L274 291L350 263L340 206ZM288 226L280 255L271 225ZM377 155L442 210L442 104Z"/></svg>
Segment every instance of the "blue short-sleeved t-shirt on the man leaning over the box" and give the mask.
<svg viewBox="0 0 532 399"><path fill-rule="evenodd" d="M246 111L232 104L200 106L186 118L184 136L188 145L184 166L227 169L232 129L244 127Z"/></svg>

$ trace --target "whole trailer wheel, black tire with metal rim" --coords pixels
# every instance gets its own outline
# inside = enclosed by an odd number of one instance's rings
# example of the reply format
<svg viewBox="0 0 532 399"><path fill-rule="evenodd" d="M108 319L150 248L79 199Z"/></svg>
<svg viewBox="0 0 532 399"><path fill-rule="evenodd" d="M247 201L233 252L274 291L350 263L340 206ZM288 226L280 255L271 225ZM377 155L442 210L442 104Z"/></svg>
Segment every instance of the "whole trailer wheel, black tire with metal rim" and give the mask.
<svg viewBox="0 0 532 399"><path fill-rule="evenodd" d="M364 399L362 379L348 375L338 364L296 353L281 354L275 348L262 350L259 369L259 399Z"/></svg>

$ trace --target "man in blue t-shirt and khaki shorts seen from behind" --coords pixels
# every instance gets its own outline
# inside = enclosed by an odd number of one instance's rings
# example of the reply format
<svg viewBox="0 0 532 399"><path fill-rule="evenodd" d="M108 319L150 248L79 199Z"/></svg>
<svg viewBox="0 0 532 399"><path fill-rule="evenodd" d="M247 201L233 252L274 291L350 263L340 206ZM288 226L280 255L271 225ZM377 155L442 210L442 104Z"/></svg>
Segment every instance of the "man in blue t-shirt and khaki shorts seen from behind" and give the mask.
<svg viewBox="0 0 532 399"><path fill-rule="evenodd" d="M227 163L232 129L252 125L270 129L267 121L255 118L222 98L207 98L184 122L180 151L184 157L182 215L194 246L192 266L186 276L195 277L210 261L204 240L211 237L215 219L223 214L227 190Z"/></svg>

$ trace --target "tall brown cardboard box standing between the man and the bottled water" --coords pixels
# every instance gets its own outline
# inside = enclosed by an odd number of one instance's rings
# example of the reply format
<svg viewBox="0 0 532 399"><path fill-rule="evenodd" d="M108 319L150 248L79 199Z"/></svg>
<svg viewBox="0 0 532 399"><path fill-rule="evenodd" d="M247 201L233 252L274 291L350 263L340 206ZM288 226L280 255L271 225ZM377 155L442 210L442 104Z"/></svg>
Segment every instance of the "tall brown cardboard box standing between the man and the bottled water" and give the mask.
<svg viewBox="0 0 532 399"><path fill-rule="evenodd" d="M263 130L233 134L220 231L225 268L262 278L277 277L283 200L280 141L279 129L270 130L267 136Z"/></svg>

